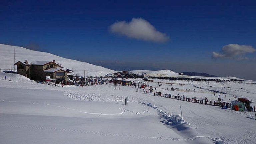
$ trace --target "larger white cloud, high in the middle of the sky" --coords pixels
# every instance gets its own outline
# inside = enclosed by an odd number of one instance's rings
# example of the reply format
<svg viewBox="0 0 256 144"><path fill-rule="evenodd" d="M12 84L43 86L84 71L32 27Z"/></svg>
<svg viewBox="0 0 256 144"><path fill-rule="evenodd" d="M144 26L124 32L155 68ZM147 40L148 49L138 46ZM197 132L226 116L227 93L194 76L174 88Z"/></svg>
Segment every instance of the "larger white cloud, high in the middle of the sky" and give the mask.
<svg viewBox="0 0 256 144"><path fill-rule="evenodd" d="M131 22L118 21L110 26L110 31L129 38L144 41L166 42L169 37L157 31L153 25L142 18L133 18Z"/></svg>

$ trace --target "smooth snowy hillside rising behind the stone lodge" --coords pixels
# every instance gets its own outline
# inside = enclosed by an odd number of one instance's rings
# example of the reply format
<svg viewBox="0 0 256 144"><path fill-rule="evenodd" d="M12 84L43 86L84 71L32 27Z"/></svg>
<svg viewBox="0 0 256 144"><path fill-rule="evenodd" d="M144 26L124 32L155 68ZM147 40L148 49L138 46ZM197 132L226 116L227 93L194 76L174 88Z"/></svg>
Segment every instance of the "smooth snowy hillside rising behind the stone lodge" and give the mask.
<svg viewBox="0 0 256 144"><path fill-rule="evenodd" d="M61 66L74 70L74 73L79 73L80 76L84 75L84 70L85 76L104 76L108 73L114 72L104 67L92 65L86 62L62 58L46 52L33 51L23 47L0 44L0 58L2 60L2 62L0 63L0 68L2 70L9 70L10 66L14 66L14 48L16 48L16 62L25 60L28 60L28 62L55 60L57 63L60 63Z"/></svg>

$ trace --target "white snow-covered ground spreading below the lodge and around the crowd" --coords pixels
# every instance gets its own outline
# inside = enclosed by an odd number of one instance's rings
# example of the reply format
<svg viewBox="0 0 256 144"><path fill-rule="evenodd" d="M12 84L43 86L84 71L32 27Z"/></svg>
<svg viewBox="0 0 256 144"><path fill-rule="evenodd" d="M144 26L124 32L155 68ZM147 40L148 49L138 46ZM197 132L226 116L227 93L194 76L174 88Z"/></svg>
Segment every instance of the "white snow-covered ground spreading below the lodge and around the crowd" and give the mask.
<svg viewBox="0 0 256 144"><path fill-rule="evenodd" d="M132 81L144 83L141 79ZM148 84L155 92L202 96L215 101L218 95L209 90L226 92L226 97L220 94L225 102L234 100L233 95L256 98L256 84L252 83L154 79ZM179 90L171 91L172 87ZM0 72L0 139L4 144L253 144L256 143L254 115L255 112L237 112L144 94L143 89L136 92L131 86L118 86L117 90L112 84L55 87Z"/></svg>

